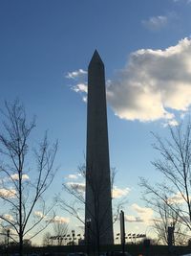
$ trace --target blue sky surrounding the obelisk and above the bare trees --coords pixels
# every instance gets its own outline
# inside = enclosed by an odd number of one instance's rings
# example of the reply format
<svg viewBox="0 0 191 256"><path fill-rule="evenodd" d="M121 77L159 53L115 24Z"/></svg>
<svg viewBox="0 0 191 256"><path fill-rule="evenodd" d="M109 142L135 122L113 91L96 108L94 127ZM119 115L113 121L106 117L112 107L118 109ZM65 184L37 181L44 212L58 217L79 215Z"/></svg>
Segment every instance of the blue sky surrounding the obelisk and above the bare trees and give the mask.
<svg viewBox="0 0 191 256"><path fill-rule="evenodd" d="M34 140L46 129L59 140L52 191L84 163L87 78L79 70L87 71L97 49L106 69L116 186L130 189L125 211L131 220L148 213L138 176L158 177L150 131L168 136L165 126L176 125L191 104L190 11L189 0L0 2L0 105L18 97L37 117ZM127 222L128 231L147 226Z"/></svg>

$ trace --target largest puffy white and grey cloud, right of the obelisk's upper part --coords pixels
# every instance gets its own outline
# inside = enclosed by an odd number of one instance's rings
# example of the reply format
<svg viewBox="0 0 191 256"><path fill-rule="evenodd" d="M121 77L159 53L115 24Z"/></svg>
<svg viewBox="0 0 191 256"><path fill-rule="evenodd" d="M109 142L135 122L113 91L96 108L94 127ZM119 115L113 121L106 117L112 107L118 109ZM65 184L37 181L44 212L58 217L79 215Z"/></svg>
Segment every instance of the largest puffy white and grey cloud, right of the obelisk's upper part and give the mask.
<svg viewBox="0 0 191 256"><path fill-rule="evenodd" d="M174 122L172 109L191 105L191 39L165 50L142 49L131 54L107 90L118 117L142 122Z"/></svg>

